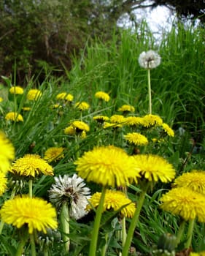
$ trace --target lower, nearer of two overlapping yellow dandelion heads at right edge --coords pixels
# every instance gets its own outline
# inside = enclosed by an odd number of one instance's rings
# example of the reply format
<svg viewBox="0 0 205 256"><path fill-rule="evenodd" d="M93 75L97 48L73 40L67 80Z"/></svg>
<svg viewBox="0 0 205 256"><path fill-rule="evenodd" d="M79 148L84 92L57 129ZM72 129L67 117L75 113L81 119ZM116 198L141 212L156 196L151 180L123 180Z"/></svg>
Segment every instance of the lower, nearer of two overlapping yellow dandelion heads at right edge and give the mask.
<svg viewBox="0 0 205 256"><path fill-rule="evenodd" d="M183 219L205 222L205 197L187 187L171 189L160 198L160 208Z"/></svg>

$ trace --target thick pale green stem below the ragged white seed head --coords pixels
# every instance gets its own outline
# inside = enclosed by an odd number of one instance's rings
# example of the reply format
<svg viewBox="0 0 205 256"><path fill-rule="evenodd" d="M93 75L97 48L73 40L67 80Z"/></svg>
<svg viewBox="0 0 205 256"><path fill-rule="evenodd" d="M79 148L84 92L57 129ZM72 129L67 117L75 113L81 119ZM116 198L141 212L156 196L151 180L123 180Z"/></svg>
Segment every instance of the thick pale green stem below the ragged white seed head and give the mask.
<svg viewBox="0 0 205 256"><path fill-rule="evenodd" d="M63 204L61 208L61 227L62 227L62 238L63 238L63 244L64 244L64 251L66 254L69 253L70 249L70 239L68 237L68 234L70 233L70 227L69 227L69 207L66 203Z"/></svg>

